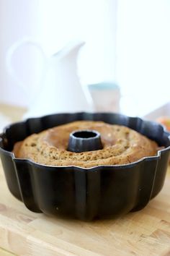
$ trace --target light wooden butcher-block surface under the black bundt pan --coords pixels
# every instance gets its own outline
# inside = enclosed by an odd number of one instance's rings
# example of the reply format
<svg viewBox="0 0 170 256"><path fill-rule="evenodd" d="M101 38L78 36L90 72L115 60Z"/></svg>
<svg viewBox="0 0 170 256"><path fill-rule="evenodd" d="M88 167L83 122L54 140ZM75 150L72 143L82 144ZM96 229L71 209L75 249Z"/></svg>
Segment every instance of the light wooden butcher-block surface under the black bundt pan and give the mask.
<svg viewBox="0 0 170 256"><path fill-rule="evenodd" d="M159 195L136 213L86 223L32 213L13 197L0 164L0 247L16 255L170 255L170 168ZM0 249L0 256L11 255Z"/></svg>

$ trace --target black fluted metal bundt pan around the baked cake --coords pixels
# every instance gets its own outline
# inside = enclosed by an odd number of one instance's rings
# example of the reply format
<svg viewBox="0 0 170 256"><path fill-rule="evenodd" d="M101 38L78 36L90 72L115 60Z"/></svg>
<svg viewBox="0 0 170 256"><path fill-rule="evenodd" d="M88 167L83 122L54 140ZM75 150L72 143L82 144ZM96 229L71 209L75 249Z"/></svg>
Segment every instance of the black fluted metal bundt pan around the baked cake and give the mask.
<svg viewBox="0 0 170 256"><path fill-rule="evenodd" d="M43 166L15 158L14 143L44 129L75 120L122 124L156 140L165 148L158 155L119 166ZM0 135L0 155L12 195L29 210L91 221L117 218L144 208L164 184L170 136L155 122L121 114L53 114L12 124Z"/></svg>

